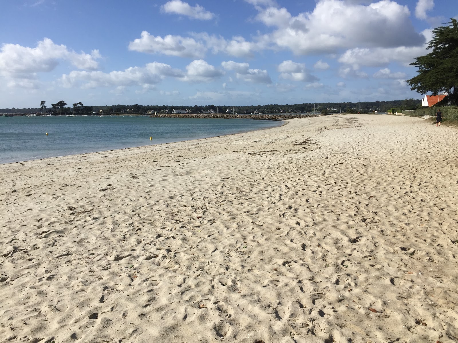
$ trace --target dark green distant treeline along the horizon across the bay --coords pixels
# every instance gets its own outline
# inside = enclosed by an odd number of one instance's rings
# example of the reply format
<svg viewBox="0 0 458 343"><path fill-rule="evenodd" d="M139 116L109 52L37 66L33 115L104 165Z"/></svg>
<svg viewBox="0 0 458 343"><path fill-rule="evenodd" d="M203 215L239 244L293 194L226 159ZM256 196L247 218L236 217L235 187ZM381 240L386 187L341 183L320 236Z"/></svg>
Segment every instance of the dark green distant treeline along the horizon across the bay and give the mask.
<svg viewBox="0 0 458 343"><path fill-rule="evenodd" d="M109 113L146 113L153 111L158 113L172 113L173 109L176 110L189 110L191 113L204 113L214 111L215 113L226 113L233 111L236 113L313 113L327 110L329 112L387 112L391 108L398 108L401 110L416 109L421 107L421 100L419 99L405 99L405 100L392 100L392 101L374 101L374 102L316 102L291 104L291 105L255 105L255 106L219 106L219 105L206 105L206 106L167 106L167 105L113 105L113 106L92 106L92 113L99 113L103 110L105 114ZM73 107L63 107L60 109L47 108L47 113L74 113ZM36 108L0 108L0 113L43 113L39 107Z"/></svg>

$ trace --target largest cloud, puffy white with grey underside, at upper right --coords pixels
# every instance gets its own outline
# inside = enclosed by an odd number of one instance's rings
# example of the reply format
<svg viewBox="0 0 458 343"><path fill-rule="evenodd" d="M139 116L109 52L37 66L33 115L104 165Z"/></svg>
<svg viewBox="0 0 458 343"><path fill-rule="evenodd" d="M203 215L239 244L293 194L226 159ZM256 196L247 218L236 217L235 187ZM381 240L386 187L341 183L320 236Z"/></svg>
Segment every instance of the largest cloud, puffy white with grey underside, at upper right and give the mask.
<svg viewBox="0 0 458 343"><path fill-rule="evenodd" d="M335 53L341 48L418 46L424 37L415 32L407 6L390 0L369 5L344 0L318 0L312 12L292 16L284 8L259 9L256 19L276 29L269 38L295 54ZM348 25L348 18L365 18Z"/></svg>

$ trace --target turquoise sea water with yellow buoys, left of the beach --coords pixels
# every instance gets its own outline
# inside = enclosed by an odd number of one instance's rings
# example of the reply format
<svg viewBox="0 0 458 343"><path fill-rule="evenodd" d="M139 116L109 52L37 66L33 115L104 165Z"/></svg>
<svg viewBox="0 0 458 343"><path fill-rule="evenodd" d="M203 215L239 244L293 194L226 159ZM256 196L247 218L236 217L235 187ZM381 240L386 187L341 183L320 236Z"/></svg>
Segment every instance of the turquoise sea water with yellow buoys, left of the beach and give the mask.
<svg viewBox="0 0 458 343"><path fill-rule="evenodd" d="M281 124L148 116L0 117L0 163L236 134Z"/></svg>

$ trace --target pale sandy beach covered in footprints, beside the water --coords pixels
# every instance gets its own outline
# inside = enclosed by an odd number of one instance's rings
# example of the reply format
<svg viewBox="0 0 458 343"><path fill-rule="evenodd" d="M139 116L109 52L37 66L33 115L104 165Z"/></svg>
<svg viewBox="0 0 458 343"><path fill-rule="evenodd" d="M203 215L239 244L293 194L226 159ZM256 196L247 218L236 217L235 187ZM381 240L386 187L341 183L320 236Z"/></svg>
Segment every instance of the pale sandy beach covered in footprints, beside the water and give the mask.
<svg viewBox="0 0 458 343"><path fill-rule="evenodd" d="M332 115L0 165L0 342L457 342L457 161Z"/></svg>

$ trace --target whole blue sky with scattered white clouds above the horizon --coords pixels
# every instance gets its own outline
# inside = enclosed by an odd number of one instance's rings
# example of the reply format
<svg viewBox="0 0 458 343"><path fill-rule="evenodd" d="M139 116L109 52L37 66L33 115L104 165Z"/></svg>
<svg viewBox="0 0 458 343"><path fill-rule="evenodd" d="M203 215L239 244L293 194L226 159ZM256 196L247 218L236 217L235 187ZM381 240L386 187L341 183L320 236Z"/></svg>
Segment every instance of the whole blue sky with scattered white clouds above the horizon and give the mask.
<svg viewBox="0 0 458 343"><path fill-rule="evenodd" d="M420 98L457 0L0 0L0 108Z"/></svg>

